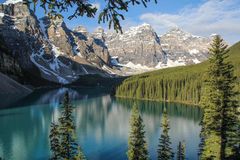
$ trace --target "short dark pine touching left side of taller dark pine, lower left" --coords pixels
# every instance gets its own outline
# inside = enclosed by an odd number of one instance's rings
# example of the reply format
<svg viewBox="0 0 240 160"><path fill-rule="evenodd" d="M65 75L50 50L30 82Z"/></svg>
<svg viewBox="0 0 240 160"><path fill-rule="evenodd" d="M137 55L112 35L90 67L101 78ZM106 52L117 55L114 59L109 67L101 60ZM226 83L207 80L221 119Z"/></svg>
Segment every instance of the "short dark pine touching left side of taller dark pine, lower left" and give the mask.
<svg viewBox="0 0 240 160"><path fill-rule="evenodd" d="M60 158L60 137L59 137L59 126L55 123L51 124L50 131L50 148L52 151L52 160L58 160Z"/></svg>

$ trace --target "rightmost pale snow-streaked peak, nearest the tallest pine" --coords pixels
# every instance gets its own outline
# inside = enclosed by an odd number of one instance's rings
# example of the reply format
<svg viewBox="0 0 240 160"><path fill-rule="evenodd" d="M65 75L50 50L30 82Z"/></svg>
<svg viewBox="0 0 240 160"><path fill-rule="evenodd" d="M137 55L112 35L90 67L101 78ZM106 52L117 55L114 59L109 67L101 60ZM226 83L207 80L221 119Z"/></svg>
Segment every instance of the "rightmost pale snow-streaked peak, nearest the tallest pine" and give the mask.
<svg viewBox="0 0 240 160"><path fill-rule="evenodd" d="M167 58L176 63L196 64L208 58L210 38L194 36L179 28L174 28L160 36L160 39Z"/></svg>

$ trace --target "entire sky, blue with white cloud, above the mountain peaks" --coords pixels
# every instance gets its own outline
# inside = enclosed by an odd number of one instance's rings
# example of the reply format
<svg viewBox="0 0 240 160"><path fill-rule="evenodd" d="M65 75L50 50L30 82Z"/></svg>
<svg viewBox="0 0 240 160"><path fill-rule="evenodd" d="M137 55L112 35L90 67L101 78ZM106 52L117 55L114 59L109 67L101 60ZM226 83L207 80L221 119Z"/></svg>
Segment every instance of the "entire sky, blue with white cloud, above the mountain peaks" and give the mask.
<svg viewBox="0 0 240 160"><path fill-rule="evenodd" d="M3 1L0 0L0 2ZM98 6L100 10L105 5L105 0L90 0L89 2ZM147 8L131 7L125 14L122 26L127 29L131 26L149 23L159 35L173 27L180 27L199 36L217 33L233 44L240 41L239 8L240 0L158 0L157 4L152 0ZM97 18L79 17L68 20L67 17L72 12L73 9L70 9L68 13L63 13L69 28L83 25L90 32L98 26L107 29L106 24L97 23ZM38 9L36 14L38 17L44 16L41 9Z"/></svg>

